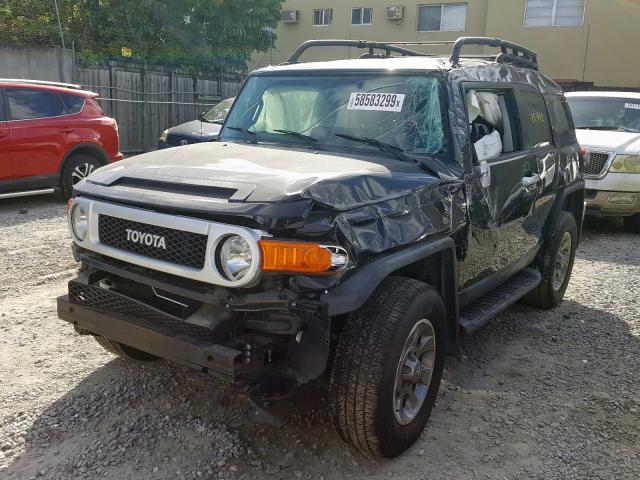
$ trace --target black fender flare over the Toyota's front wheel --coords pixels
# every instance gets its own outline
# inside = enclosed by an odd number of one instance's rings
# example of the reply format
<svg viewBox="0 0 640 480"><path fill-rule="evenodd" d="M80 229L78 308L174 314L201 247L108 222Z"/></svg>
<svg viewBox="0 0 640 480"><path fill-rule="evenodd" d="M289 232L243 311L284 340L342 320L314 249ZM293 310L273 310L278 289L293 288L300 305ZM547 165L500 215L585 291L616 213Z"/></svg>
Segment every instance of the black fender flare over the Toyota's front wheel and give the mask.
<svg viewBox="0 0 640 480"><path fill-rule="evenodd" d="M458 279L455 244L450 237L428 240L363 266L325 295L328 315L336 317L358 310L391 275L420 280L440 293L447 311L448 337L455 342L459 319Z"/></svg>

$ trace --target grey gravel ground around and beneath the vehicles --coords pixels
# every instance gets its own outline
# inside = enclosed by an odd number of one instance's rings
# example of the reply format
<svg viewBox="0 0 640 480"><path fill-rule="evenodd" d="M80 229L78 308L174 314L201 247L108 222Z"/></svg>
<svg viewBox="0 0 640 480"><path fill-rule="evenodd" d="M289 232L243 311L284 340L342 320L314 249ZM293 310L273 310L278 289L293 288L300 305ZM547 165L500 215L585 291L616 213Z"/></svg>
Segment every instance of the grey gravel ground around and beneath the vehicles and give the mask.
<svg viewBox="0 0 640 480"><path fill-rule="evenodd" d="M559 308L464 340L420 441L374 462L337 439L322 385L258 408L76 335L55 311L75 268L63 212L0 203L2 479L639 478L640 237L619 222L588 222Z"/></svg>

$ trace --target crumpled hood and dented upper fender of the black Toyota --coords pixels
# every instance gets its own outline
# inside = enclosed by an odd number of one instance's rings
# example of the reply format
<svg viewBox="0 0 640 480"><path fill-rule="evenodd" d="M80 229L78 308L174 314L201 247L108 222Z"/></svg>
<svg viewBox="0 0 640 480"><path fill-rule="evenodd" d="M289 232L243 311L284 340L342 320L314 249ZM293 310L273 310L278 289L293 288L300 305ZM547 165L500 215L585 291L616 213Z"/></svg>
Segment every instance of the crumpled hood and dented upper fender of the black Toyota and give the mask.
<svg viewBox="0 0 640 480"><path fill-rule="evenodd" d="M460 181L443 185L394 159L242 144L181 150L103 169L76 191L176 214L240 217L274 236L346 241L356 263L464 223Z"/></svg>

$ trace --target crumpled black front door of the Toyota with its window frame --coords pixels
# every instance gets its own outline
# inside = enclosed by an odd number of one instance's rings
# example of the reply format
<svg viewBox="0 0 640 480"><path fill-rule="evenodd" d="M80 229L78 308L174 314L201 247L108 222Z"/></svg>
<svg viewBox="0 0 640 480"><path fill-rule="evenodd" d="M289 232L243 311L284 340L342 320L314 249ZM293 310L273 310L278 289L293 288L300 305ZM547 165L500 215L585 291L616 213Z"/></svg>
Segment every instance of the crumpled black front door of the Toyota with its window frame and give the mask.
<svg viewBox="0 0 640 480"><path fill-rule="evenodd" d="M482 162L472 152L473 175L467 185L470 226L459 272L462 290L483 280L506 280L511 272L529 264L537 251L540 235L531 225L538 195L538 152L528 147L518 88L504 83L465 85L465 92L475 89L498 96L502 125L496 129L502 152ZM476 289L471 296L477 298L481 293ZM465 300L473 298L465 299L463 295Z"/></svg>

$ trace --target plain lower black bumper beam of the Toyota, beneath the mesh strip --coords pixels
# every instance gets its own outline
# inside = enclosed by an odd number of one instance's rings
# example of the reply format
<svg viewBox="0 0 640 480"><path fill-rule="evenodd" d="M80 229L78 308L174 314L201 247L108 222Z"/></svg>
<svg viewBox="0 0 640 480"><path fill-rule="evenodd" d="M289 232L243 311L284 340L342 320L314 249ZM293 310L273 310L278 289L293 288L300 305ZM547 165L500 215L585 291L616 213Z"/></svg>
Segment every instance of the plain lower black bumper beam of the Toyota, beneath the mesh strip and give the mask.
<svg viewBox="0 0 640 480"><path fill-rule="evenodd" d="M183 333L172 334L153 321L126 314L103 313L58 297L58 317L79 331L101 335L160 358L210 373L230 382L238 379L242 352Z"/></svg>

